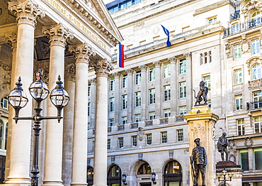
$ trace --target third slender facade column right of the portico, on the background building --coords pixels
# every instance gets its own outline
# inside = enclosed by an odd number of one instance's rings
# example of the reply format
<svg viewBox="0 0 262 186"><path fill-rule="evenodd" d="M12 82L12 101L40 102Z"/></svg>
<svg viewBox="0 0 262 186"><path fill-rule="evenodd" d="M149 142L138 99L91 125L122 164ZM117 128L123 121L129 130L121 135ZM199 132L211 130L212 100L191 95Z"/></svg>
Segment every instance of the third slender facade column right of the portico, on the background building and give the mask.
<svg viewBox="0 0 262 186"><path fill-rule="evenodd" d="M147 120L147 66L139 66L141 69L141 121Z"/></svg>

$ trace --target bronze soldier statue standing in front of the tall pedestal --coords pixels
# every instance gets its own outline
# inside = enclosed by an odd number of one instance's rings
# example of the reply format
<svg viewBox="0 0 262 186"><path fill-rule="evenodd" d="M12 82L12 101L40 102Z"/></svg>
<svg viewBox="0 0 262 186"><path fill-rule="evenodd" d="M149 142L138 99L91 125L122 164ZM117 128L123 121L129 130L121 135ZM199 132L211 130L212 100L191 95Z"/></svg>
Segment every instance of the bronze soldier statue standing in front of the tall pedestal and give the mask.
<svg viewBox="0 0 262 186"><path fill-rule="evenodd" d="M199 172L202 175L202 186L205 186L205 167L207 165L207 154L205 148L200 146L200 138L194 140L196 147L192 150L190 164L193 170L193 186L198 186ZM200 185L199 185L200 186Z"/></svg>

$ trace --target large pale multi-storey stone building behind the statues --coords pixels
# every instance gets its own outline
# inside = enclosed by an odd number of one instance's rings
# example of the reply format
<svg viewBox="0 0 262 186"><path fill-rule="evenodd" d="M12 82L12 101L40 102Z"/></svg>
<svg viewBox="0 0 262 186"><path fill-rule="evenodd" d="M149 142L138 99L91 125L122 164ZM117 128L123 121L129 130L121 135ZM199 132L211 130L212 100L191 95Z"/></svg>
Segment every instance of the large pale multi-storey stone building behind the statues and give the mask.
<svg viewBox="0 0 262 186"><path fill-rule="evenodd" d="M198 91L202 80L209 87L208 106L220 118L215 142L225 131L229 159L244 170L243 185L262 185L261 1L144 0L106 6L125 45L125 67L116 67L108 79L108 185L189 185L183 115L195 104L193 89ZM161 25L170 32L169 47ZM111 53L115 62L116 48ZM89 184L97 133L95 87L90 80ZM217 150L213 155L215 162L221 160Z"/></svg>

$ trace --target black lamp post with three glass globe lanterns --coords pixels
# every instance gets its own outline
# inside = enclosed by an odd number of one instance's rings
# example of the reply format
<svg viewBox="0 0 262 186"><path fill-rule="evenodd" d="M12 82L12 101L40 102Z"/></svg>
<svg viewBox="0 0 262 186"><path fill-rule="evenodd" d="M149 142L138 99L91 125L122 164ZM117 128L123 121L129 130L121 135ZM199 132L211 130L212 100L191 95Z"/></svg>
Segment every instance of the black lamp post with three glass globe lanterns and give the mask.
<svg viewBox="0 0 262 186"><path fill-rule="evenodd" d="M49 90L47 85L41 80L42 72L38 70L36 73L36 81L30 84L29 92L30 95L35 99L37 102L37 106L35 107L35 116L28 116L28 117L20 117L19 111L23 109L23 107L28 103L28 98L26 97L25 92L23 92L21 77L18 78L18 82L16 82L16 87L11 90L10 94L8 95L8 102L13 106L15 109L15 117L13 118L16 121L18 120L33 120L34 121L34 128L35 136L34 136L34 151L33 151L33 167L31 170L31 185L38 186L38 143L39 143L39 132L41 130L40 124L41 121L44 119L57 119L58 123L62 119L61 113L64 106L67 106L69 102L69 95L64 90L62 86L63 82L61 81L60 76L58 76L57 86L55 89L52 89L50 93L50 100L52 104L57 107L57 116L41 116L42 108L40 104L43 100L45 100L49 94Z"/></svg>

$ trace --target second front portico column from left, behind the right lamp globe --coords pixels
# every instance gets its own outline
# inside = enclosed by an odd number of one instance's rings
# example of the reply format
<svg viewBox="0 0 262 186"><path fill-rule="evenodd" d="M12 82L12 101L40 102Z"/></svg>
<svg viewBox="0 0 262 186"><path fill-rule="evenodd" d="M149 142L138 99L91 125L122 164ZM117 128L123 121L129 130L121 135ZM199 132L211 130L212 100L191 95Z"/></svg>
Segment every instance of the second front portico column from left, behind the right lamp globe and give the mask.
<svg viewBox="0 0 262 186"><path fill-rule="evenodd" d="M57 77L64 81L64 48L68 38L73 35L61 23L44 27L42 32L50 38L50 72L49 89L55 88ZM57 109L51 102L47 102L47 116L57 114ZM62 144L63 121L47 120L45 143L45 175L43 185L62 185Z"/></svg>

